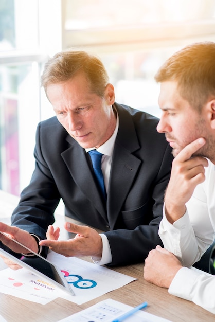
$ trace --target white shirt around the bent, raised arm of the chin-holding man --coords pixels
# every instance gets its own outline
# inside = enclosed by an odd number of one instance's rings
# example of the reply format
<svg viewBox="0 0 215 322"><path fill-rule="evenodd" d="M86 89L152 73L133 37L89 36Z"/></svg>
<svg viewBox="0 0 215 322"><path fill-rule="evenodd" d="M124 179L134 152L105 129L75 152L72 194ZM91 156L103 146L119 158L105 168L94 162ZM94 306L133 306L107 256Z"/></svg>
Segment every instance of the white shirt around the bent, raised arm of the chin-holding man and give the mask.
<svg viewBox="0 0 215 322"><path fill-rule="evenodd" d="M184 216L173 224L168 222L164 211L159 236L164 247L189 267L201 258L215 238L215 171L209 160L205 181L196 186L186 208Z"/></svg>

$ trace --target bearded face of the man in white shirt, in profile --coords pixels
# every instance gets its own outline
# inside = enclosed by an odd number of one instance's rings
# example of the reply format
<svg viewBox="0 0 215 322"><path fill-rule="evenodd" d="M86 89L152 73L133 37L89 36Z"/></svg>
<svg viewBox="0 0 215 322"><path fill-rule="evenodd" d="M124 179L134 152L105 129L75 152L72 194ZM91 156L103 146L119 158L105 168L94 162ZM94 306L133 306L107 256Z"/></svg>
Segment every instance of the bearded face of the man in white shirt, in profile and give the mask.
<svg viewBox="0 0 215 322"><path fill-rule="evenodd" d="M162 116L157 125L157 131L165 133L166 139L173 148L176 156L185 146L199 137L206 139L206 144L195 155L211 157L213 138L209 131L204 109L200 114L195 111L188 101L183 99L177 90L177 82L167 81L160 84L158 98Z"/></svg>

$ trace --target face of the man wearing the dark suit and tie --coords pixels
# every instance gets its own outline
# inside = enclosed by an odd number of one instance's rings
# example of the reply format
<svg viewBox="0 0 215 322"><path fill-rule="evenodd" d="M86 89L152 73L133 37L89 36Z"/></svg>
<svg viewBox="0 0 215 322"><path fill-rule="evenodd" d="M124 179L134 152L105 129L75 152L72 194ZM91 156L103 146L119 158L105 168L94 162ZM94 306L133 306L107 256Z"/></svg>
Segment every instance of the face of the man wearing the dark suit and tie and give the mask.
<svg viewBox="0 0 215 322"><path fill-rule="evenodd" d="M101 98L79 73L66 82L48 85L47 96L59 122L82 148L98 148L111 137L116 125L111 84Z"/></svg>

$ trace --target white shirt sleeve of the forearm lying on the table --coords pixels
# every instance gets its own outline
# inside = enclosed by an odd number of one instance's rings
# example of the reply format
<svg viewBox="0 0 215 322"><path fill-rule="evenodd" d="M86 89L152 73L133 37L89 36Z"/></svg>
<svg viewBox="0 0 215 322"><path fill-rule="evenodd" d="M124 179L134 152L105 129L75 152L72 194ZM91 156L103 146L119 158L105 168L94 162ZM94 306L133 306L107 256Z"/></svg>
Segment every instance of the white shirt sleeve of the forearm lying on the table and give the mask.
<svg viewBox="0 0 215 322"><path fill-rule="evenodd" d="M169 293L192 301L215 314L215 276L187 267L180 269L169 287Z"/></svg>

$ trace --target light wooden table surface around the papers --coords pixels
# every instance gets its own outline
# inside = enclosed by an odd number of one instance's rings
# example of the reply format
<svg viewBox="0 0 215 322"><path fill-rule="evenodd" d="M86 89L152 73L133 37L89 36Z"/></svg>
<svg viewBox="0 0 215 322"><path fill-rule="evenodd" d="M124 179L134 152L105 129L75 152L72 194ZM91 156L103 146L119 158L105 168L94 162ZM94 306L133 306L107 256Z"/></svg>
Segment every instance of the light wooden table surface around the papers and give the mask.
<svg viewBox="0 0 215 322"><path fill-rule="evenodd" d="M19 198L16 196L0 190L0 221L10 223L11 212L18 201ZM58 225L62 226L64 221L64 216L56 214ZM65 232L65 234L68 233ZM62 239L67 237L67 235L61 236ZM90 257L82 257L82 259L91 261ZM2 259L0 266L0 269L5 267ZM88 301L83 305L77 305L62 298L57 298L46 305L41 305L0 293L0 314L7 322L55 322L86 309L101 300L112 298L132 307L147 301L148 307L146 312L169 319L172 322L214 322L214 315L212 313L207 312L190 301L170 295L167 289L159 288L146 282L144 280L144 263L116 267L114 270L137 278L137 280Z"/></svg>

